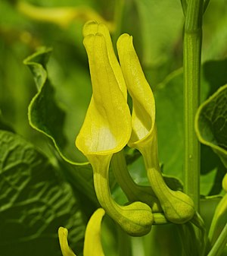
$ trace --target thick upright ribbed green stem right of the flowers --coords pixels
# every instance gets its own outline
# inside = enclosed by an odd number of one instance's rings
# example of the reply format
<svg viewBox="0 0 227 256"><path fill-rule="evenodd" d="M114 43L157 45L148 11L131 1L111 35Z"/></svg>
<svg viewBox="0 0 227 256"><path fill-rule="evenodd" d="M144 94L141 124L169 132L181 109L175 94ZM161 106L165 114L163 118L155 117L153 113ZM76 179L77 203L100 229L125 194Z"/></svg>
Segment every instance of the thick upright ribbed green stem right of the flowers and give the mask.
<svg viewBox="0 0 227 256"><path fill-rule="evenodd" d="M185 119L185 193L199 210L200 144L194 132L199 105L203 0L188 0L183 46Z"/></svg>

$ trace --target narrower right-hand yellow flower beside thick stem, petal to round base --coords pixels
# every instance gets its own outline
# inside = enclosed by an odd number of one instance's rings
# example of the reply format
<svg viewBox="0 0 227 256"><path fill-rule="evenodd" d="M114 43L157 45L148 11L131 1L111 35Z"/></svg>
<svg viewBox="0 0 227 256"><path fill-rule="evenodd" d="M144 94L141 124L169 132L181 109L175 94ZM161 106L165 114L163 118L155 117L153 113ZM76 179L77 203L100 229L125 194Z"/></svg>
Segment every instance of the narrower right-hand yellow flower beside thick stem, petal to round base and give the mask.
<svg viewBox="0 0 227 256"><path fill-rule="evenodd" d="M173 223L185 223L194 216L194 204L188 195L168 188L161 175L157 153L154 96L141 69L132 44L132 36L120 36L117 51L133 103L129 147L137 148L143 155L151 188L157 195L166 218Z"/></svg>

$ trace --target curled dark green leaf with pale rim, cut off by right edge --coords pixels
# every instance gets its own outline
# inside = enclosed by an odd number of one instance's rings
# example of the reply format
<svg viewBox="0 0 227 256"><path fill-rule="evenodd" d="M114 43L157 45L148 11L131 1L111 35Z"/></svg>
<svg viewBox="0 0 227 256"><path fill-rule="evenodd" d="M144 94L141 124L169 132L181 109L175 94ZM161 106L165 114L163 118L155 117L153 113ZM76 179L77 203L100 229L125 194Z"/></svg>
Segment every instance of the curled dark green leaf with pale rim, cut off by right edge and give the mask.
<svg viewBox="0 0 227 256"><path fill-rule="evenodd" d="M199 141L211 147L227 168L227 84L201 104L195 128Z"/></svg>

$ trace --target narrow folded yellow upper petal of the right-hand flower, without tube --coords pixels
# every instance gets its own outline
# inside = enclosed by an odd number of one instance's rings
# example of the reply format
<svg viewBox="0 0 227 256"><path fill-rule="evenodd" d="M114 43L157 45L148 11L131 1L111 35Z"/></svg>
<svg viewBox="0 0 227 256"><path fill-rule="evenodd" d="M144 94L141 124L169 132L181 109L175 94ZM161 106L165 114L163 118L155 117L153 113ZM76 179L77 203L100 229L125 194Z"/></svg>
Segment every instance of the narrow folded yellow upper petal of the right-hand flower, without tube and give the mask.
<svg viewBox="0 0 227 256"><path fill-rule="evenodd" d="M155 103L151 87L141 69L132 44L132 36L123 34L117 41L117 51L126 86L132 96L132 137L130 147L140 147L151 140L155 123Z"/></svg>

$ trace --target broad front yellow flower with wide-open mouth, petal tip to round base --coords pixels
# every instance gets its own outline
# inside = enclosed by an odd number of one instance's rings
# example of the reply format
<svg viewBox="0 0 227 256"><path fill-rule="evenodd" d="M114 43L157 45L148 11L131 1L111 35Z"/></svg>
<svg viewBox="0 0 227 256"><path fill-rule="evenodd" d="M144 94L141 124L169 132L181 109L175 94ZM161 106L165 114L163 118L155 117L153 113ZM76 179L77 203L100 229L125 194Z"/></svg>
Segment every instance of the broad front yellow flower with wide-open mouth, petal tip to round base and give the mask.
<svg viewBox="0 0 227 256"><path fill-rule="evenodd" d="M145 235L153 223L151 208L141 202L120 206L113 201L109 188L111 157L126 146L132 132L123 74L104 24L89 21L83 35L93 94L76 137L76 147L92 164L95 192L101 207L130 235Z"/></svg>

